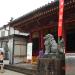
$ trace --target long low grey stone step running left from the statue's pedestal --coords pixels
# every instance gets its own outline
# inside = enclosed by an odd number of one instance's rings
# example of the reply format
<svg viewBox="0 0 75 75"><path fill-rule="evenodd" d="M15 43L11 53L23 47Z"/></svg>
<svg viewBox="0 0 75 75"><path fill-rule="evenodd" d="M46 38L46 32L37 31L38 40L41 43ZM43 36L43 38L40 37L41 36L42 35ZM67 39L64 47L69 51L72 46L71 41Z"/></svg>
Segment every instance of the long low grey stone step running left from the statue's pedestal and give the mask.
<svg viewBox="0 0 75 75"><path fill-rule="evenodd" d="M19 73L27 74L27 75L36 75L36 70L33 69L27 69L27 68L22 68L18 66L13 66L13 65L5 65L5 69L16 71Z"/></svg>

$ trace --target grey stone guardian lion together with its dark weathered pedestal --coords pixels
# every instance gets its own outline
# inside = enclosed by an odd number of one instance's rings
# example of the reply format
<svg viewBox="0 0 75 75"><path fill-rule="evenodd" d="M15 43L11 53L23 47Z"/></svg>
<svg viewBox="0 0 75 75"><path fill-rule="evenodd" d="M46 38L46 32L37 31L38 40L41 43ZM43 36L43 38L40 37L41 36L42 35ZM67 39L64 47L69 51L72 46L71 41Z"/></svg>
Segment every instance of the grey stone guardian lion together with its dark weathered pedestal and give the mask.
<svg viewBox="0 0 75 75"><path fill-rule="evenodd" d="M58 49L52 34L45 35L44 39L45 54L38 59L36 75L65 75L65 69L62 69L65 67L65 54ZM60 44L63 45L63 40Z"/></svg>

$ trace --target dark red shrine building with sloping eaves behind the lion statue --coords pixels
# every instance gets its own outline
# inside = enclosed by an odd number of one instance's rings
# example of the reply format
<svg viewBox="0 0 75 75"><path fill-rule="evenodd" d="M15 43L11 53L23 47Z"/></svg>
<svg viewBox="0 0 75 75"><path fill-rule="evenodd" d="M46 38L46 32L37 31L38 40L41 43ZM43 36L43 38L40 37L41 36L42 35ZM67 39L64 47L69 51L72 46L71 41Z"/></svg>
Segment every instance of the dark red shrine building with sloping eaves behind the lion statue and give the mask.
<svg viewBox="0 0 75 75"><path fill-rule="evenodd" d="M63 38L65 53L75 52L75 0L65 0L63 15ZM54 35L58 42L59 2L48 3L18 19L10 22L10 27L20 32L29 33L28 42L32 42L32 55L38 56L44 48L44 36Z"/></svg>

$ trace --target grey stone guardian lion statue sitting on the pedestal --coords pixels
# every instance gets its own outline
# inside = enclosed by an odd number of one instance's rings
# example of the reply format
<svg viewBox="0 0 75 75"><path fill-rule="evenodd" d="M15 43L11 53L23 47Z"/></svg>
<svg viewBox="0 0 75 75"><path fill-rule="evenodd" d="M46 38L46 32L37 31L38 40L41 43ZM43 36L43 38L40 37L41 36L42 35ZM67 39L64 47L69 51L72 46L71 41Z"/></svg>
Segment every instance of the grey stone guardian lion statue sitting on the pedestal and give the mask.
<svg viewBox="0 0 75 75"><path fill-rule="evenodd" d="M47 34L44 37L45 54L58 52L57 43L52 34Z"/></svg>

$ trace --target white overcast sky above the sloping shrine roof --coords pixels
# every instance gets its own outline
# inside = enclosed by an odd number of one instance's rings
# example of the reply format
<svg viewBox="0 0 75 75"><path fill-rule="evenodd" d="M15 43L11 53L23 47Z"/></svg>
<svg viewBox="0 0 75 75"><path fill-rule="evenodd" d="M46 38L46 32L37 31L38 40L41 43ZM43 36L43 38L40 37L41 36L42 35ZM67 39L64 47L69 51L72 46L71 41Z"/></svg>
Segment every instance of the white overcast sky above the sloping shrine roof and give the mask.
<svg viewBox="0 0 75 75"><path fill-rule="evenodd" d="M0 27L54 0L0 0Z"/></svg>

